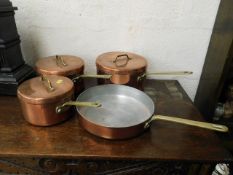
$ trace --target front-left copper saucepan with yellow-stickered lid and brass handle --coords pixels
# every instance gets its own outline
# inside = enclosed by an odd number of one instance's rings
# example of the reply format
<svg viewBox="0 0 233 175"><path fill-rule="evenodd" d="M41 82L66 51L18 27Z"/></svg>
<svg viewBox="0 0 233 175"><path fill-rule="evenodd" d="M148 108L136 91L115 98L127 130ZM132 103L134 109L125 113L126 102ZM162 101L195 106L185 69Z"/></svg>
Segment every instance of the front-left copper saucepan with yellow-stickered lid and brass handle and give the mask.
<svg viewBox="0 0 233 175"><path fill-rule="evenodd" d="M73 82L66 77L47 75L20 84L17 95L26 121L50 126L72 115L71 105L98 107L97 102L76 102Z"/></svg>

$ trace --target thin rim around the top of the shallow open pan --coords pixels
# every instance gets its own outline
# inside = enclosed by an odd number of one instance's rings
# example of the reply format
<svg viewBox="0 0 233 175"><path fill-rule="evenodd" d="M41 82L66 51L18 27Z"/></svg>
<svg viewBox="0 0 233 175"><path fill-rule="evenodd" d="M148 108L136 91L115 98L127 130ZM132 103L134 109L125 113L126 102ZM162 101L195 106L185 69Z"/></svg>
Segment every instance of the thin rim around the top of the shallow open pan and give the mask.
<svg viewBox="0 0 233 175"><path fill-rule="evenodd" d="M76 106L76 110L77 110L78 114L79 114L84 120L86 120L87 122L92 123L93 125L96 125L96 126L99 126L99 127L104 127L104 128L109 128L109 129L131 128L131 127L135 127L135 126L137 126L137 125L141 125L141 124L143 124L143 123L146 123L148 120L151 119L151 117L153 116L154 111L155 111L155 104L154 104L154 101L152 100L152 98L151 98L148 94L146 94L145 92L143 92L143 91L141 91L141 90L138 90L138 89L136 89L136 88L134 88L134 87L127 86L127 85L105 84L105 85L93 86L93 87L90 87L90 88L86 89L86 90L83 91L82 93L80 93L79 96L76 98L76 101L79 101L79 98L80 98L83 94L86 94L88 91L91 91L91 90L94 89L94 88L97 88L97 87L114 87L114 86L115 86L115 87L128 88L128 89L131 89L131 90L134 90L134 91L137 91L137 92L143 94L143 95L150 101L150 103L152 104L152 109L151 109L151 111L153 111L153 112L151 112L150 117L148 117L146 120L142 121L141 123L137 123L137 124L130 125L130 126L125 126L125 127L124 127L124 126L123 126L123 127L121 127L121 126L117 127L117 126L106 126L106 125L102 125L102 124L99 124L99 123L96 123L96 122L93 122L93 121L89 120L87 117L84 117L84 115L83 115L83 114L80 112L80 110L78 109L79 107Z"/></svg>

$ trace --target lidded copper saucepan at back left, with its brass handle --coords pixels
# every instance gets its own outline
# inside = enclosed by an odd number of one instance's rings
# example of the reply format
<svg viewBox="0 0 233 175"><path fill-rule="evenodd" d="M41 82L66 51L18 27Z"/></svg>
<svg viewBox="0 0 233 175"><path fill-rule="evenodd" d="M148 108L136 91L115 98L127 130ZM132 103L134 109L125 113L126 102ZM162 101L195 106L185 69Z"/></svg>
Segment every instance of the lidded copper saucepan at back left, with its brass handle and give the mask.
<svg viewBox="0 0 233 175"><path fill-rule="evenodd" d="M61 75L74 80L75 94L84 90L83 78L110 78L110 75L84 74L84 61L72 55L55 55L40 58L35 64L40 75Z"/></svg>

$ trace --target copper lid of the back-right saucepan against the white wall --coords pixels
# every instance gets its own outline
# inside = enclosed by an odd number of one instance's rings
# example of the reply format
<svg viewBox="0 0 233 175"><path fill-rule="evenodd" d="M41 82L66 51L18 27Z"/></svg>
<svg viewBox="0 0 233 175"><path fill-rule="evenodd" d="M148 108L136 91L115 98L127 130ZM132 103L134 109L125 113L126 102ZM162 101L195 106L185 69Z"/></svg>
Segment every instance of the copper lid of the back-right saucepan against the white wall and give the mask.
<svg viewBox="0 0 233 175"><path fill-rule="evenodd" d="M109 73L131 73L145 70L147 61L144 57L130 52L107 52L96 59L96 66Z"/></svg>

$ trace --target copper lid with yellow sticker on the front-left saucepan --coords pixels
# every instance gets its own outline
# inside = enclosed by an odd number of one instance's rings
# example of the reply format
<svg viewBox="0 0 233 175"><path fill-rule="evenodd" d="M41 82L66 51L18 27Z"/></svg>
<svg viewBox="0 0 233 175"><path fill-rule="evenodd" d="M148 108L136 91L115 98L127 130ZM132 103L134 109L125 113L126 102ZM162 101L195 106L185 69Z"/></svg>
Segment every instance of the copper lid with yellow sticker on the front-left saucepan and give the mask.
<svg viewBox="0 0 233 175"><path fill-rule="evenodd" d="M73 82L66 77L46 75L35 77L20 84L18 97L28 103L45 104L59 102L59 99L73 93Z"/></svg>

